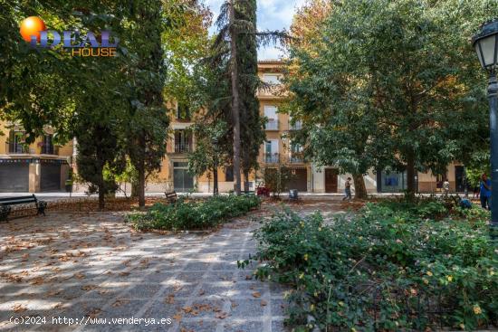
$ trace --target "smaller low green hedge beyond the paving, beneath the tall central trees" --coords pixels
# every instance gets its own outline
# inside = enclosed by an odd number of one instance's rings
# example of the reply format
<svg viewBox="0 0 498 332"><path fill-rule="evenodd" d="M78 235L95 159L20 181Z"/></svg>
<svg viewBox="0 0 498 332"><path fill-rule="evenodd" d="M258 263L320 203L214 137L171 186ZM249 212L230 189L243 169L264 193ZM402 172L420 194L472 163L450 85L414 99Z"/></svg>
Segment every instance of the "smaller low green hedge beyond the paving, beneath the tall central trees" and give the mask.
<svg viewBox="0 0 498 332"><path fill-rule="evenodd" d="M206 200L180 198L176 204L154 204L147 213L130 213L127 221L139 231L205 230L259 207L254 194L219 195Z"/></svg>

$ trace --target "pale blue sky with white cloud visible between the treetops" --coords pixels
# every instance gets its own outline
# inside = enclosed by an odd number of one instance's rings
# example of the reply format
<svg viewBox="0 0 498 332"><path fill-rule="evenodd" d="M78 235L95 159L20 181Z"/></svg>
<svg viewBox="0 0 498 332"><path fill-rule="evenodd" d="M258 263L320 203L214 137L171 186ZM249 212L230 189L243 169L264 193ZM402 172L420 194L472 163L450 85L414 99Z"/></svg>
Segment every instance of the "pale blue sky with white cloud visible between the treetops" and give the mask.
<svg viewBox="0 0 498 332"><path fill-rule="evenodd" d="M205 0L205 4L211 8L214 14L213 21L218 16L221 4L225 0ZM257 0L257 24L258 30L282 30L289 29L292 16L296 8L302 6L306 0ZM211 27L211 33L215 28ZM258 51L258 60L278 59L283 52L278 47L265 47Z"/></svg>

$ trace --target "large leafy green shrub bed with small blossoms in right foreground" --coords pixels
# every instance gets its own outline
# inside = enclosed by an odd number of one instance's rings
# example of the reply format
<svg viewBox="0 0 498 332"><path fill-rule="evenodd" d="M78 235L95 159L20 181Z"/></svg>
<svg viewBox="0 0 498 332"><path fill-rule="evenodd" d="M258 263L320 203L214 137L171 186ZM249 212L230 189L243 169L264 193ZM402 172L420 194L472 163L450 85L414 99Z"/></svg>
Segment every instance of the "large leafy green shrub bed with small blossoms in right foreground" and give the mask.
<svg viewBox="0 0 498 332"><path fill-rule="evenodd" d="M434 221L446 213L434 203L367 204L331 225L285 211L256 232L250 260L264 262L257 278L292 286L296 331L474 329L496 324L498 259L485 215L471 211L472 223Z"/></svg>

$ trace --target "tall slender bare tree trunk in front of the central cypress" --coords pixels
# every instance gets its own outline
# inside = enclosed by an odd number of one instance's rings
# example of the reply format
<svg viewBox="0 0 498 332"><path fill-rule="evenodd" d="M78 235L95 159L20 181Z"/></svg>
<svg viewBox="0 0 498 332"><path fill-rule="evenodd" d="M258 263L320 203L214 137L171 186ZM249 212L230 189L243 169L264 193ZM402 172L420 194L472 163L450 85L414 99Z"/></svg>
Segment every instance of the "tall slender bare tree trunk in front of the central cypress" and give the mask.
<svg viewBox="0 0 498 332"><path fill-rule="evenodd" d="M232 62L232 118L234 121L234 190L240 195L240 114L239 114L239 89L237 71L237 32L235 28L235 0L230 1L230 61Z"/></svg>

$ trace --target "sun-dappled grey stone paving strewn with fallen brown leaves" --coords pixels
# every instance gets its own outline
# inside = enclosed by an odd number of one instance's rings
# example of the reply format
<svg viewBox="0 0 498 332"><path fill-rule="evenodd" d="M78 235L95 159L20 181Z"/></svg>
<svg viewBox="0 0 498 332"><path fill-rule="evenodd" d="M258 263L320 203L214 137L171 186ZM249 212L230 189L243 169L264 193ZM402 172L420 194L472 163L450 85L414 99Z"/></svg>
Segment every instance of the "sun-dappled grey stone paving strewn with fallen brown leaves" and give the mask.
<svg viewBox="0 0 498 332"><path fill-rule="evenodd" d="M293 208L337 211L340 203ZM284 289L236 267L254 253L257 225L248 216L211 234L138 233L121 213L2 223L0 331L284 331ZM15 325L11 317L46 324ZM53 324L57 318L73 324ZM89 318L107 321L91 325ZM171 324L118 325L111 318Z"/></svg>

